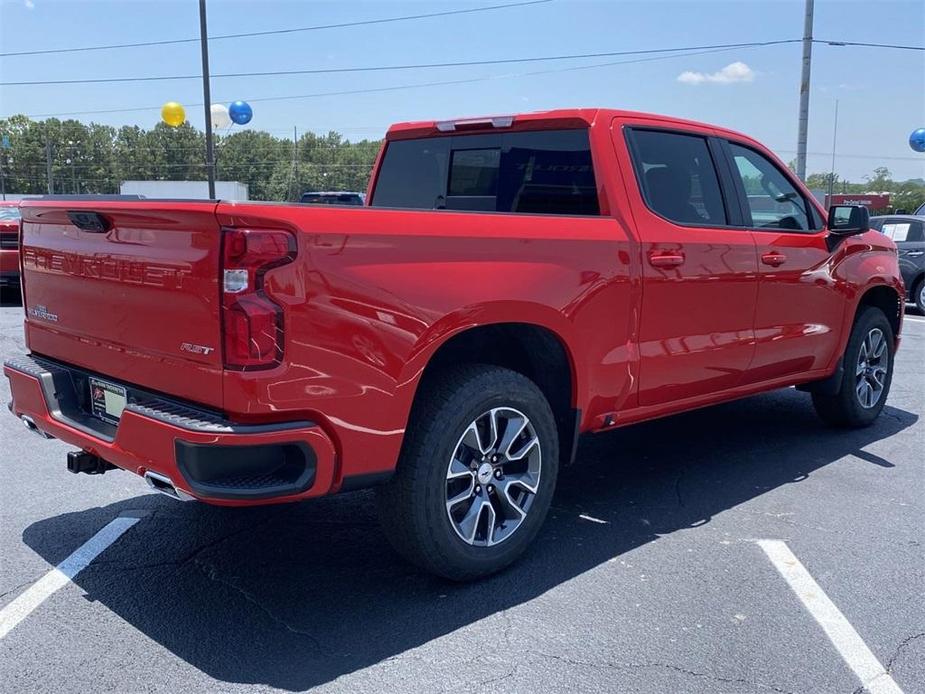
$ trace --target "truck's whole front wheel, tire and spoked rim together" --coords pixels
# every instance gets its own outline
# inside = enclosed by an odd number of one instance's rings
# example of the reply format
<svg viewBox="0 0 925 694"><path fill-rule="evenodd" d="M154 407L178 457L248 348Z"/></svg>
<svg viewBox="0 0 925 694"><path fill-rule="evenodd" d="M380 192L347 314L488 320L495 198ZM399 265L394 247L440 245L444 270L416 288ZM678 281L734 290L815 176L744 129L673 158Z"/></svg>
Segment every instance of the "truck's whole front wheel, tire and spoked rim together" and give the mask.
<svg viewBox="0 0 925 694"><path fill-rule="evenodd" d="M827 424L863 427L880 415L893 379L893 329L878 308L868 306L854 322L842 357L844 372L835 395L813 393Z"/></svg>

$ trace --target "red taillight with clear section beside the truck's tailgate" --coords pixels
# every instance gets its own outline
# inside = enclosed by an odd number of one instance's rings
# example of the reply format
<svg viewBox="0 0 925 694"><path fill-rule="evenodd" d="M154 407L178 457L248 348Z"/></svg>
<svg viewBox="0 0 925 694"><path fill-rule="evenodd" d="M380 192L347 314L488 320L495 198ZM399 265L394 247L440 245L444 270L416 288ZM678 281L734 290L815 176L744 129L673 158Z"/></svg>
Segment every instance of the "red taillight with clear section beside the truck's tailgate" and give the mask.
<svg viewBox="0 0 925 694"><path fill-rule="evenodd" d="M288 231L222 231L222 334L225 368L267 369L283 358L283 309L264 291L264 276L291 263Z"/></svg>

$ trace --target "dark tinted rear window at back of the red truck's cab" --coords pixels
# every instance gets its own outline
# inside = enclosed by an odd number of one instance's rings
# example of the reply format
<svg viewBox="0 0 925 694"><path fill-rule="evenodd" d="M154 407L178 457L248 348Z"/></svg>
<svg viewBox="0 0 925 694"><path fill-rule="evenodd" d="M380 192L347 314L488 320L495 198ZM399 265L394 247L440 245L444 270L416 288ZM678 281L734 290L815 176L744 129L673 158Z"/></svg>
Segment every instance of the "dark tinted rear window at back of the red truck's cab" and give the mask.
<svg viewBox="0 0 925 694"><path fill-rule="evenodd" d="M390 142L372 206L599 215L588 131Z"/></svg>

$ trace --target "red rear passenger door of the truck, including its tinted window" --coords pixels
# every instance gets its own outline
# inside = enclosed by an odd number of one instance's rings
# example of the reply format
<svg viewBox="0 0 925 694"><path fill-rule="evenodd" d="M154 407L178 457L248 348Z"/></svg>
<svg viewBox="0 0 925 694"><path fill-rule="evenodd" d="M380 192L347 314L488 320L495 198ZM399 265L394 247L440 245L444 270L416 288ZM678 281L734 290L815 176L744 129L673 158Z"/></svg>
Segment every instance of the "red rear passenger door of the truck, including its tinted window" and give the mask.
<svg viewBox="0 0 925 694"><path fill-rule="evenodd" d="M723 193L731 175L719 142L711 131L645 121L615 137L618 158L629 155L622 165L642 253L639 405L734 388L755 350L758 261L752 235L737 228L737 202Z"/></svg>

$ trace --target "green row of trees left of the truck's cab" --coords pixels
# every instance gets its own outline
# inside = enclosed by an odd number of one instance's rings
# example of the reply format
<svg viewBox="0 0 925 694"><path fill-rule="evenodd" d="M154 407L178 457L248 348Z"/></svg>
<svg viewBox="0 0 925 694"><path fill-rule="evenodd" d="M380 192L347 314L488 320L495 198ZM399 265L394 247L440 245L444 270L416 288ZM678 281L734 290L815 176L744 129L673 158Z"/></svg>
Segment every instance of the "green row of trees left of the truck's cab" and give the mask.
<svg viewBox="0 0 925 694"><path fill-rule="evenodd" d="M55 193L118 193L122 181L205 180L205 135L189 123L113 128L77 120L0 119L11 148L0 150L6 190L47 193L51 150ZM306 190L366 190L381 142L336 132L297 142L259 130L215 138L216 178L248 185L253 200L297 200Z"/></svg>

